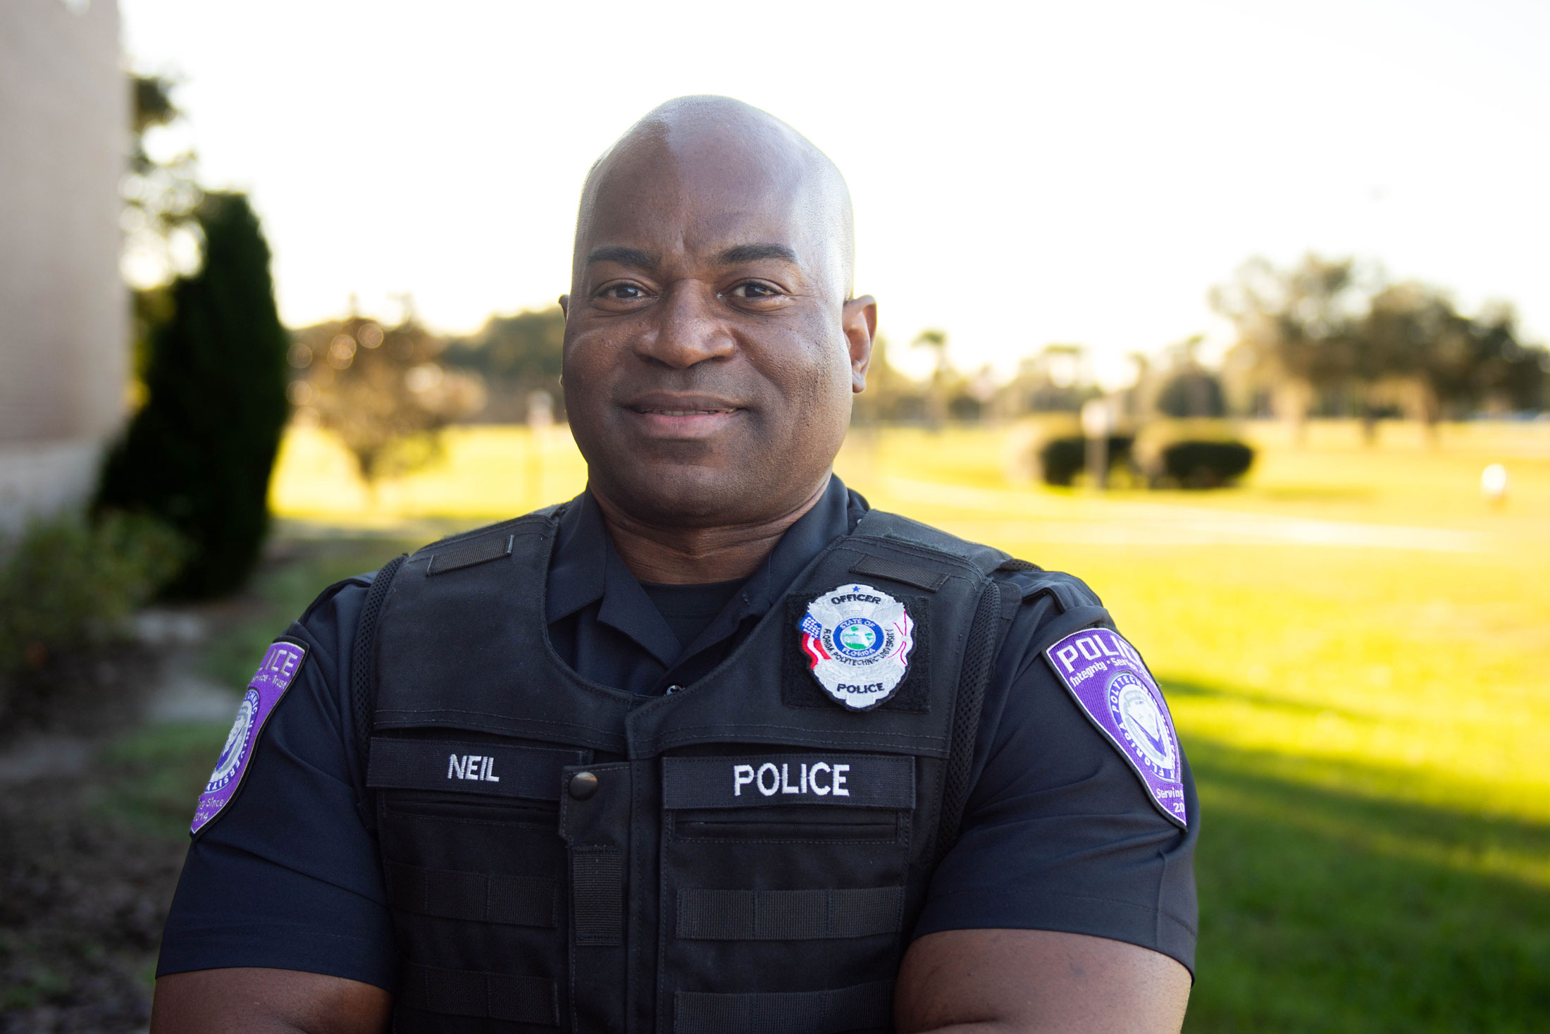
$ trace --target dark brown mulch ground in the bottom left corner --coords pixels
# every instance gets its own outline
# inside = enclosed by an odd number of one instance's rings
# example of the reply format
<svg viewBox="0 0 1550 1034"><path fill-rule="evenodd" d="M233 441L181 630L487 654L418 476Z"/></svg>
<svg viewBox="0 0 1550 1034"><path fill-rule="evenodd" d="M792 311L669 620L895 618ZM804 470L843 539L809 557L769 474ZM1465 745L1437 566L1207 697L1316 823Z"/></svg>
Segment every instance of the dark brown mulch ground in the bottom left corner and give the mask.
<svg viewBox="0 0 1550 1034"><path fill-rule="evenodd" d="M150 1018L150 974L186 842L102 806L102 788L124 772L98 747L133 724L153 677L149 653L127 646L12 685L22 691L0 750L48 735L84 760L0 784L3 1034L118 1034Z"/></svg>

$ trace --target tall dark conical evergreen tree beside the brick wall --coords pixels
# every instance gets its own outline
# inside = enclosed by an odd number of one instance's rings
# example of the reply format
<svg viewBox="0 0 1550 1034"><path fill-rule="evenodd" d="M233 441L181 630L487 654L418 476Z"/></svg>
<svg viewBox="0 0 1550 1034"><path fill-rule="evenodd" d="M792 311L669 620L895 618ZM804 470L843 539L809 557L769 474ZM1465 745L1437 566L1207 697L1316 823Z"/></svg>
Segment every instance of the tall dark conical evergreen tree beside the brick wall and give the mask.
<svg viewBox="0 0 1550 1034"><path fill-rule="evenodd" d="M211 597L246 580L268 530L288 339L246 197L206 194L194 219L203 264L167 291L170 316L147 336L146 405L108 453L93 508L172 524L189 555L167 591Z"/></svg>

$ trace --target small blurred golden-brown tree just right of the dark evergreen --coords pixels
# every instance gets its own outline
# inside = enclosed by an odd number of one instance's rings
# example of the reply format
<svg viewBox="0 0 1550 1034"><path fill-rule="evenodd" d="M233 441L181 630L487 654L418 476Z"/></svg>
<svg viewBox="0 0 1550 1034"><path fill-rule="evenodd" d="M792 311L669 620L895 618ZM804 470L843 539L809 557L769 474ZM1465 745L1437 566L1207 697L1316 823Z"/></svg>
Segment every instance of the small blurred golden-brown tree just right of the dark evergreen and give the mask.
<svg viewBox="0 0 1550 1034"><path fill-rule="evenodd" d="M290 363L301 415L333 431L367 485L437 454L439 433L484 405L479 381L445 369L446 343L414 318L397 327L350 316L296 332Z"/></svg>

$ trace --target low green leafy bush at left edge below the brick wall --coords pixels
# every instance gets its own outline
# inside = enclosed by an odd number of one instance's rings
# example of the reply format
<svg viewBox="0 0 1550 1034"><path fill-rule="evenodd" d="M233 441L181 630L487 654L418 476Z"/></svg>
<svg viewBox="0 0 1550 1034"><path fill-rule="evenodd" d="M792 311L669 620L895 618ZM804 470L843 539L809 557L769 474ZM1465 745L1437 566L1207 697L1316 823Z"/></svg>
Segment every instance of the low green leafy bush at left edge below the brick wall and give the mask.
<svg viewBox="0 0 1550 1034"><path fill-rule="evenodd" d="M177 532L124 513L34 521L0 543L0 677L107 645L181 558Z"/></svg>

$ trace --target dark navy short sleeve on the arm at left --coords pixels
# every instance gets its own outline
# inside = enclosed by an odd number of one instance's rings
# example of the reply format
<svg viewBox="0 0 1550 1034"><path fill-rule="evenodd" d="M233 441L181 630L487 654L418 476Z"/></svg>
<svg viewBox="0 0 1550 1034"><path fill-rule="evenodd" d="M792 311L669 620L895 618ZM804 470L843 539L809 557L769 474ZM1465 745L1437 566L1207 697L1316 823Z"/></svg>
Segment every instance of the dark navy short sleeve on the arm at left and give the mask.
<svg viewBox="0 0 1550 1034"><path fill-rule="evenodd" d="M307 660L264 726L240 794L189 846L158 977L259 966L392 989L392 924L358 808L346 696L366 584L330 588L287 631Z"/></svg>

